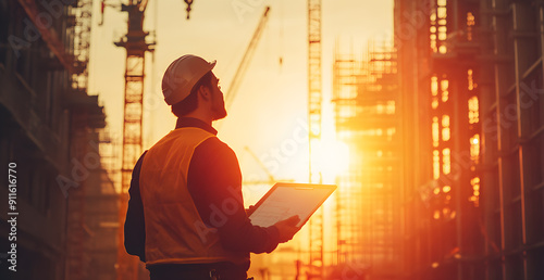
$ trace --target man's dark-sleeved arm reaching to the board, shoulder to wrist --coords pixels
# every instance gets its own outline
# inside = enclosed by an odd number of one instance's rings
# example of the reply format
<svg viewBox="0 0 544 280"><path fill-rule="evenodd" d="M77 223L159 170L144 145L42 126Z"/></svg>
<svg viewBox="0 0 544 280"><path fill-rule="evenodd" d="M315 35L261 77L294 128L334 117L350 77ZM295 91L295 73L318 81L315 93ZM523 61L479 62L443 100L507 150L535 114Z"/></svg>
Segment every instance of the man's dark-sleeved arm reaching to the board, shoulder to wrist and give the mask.
<svg viewBox="0 0 544 280"><path fill-rule="evenodd" d="M244 209L238 161L219 139L210 138L196 148L187 188L202 221L219 230L225 249L270 253L281 242L276 227L251 225Z"/></svg>

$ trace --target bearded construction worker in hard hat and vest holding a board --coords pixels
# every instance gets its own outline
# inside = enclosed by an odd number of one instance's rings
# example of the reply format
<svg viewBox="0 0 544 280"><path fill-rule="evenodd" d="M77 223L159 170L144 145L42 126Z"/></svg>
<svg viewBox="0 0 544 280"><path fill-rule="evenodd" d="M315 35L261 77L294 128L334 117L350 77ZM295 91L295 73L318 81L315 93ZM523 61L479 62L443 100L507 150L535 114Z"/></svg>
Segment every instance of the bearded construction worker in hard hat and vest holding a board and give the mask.
<svg viewBox="0 0 544 280"><path fill-rule="evenodd" d="M174 130L138 160L128 191L125 249L151 280L246 279L249 253L270 253L299 230L298 216L251 225L236 155L212 120L226 116L215 62L183 55L162 79Z"/></svg>

